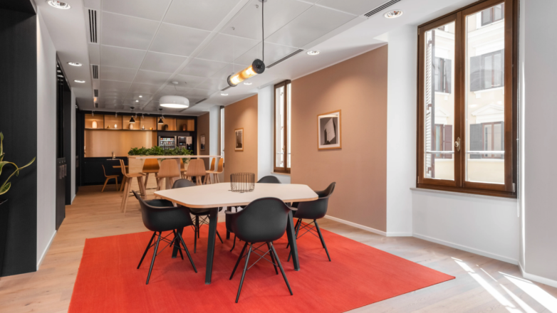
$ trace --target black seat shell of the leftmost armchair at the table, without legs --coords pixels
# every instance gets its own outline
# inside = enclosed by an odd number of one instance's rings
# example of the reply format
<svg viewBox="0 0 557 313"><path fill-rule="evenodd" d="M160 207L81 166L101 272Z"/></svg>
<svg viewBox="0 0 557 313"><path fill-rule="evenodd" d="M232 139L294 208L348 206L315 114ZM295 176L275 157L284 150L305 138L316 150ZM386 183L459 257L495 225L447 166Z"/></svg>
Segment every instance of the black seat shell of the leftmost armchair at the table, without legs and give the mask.
<svg viewBox="0 0 557 313"><path fill-rule="evenodd" d="M189 209L184 206L150 206L141 196L132 191L140 201L143 225L151 231L167 231L193 225Z"/></svg>

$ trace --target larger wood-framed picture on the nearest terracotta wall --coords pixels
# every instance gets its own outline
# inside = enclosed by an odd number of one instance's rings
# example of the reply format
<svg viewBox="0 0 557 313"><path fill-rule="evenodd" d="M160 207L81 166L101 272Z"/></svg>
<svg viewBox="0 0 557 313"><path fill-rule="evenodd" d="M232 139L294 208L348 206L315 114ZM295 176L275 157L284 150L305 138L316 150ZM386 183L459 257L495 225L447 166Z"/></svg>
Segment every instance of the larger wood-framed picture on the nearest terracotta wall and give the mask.
<svg viewBox="0 0 557 313"><path fill-rule="evenodd" d="M340 110L317 115L317 149L342 149Z"/></svg>

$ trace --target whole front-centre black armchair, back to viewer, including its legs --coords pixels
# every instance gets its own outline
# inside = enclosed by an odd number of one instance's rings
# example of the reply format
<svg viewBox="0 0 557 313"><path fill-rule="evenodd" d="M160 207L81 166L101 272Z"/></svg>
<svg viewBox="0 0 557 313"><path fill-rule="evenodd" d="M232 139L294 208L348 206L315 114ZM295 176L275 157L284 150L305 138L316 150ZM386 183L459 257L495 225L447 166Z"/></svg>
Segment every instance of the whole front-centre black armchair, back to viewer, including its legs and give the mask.
<svg viewBox="0 0 557 313"><path fill-rule="evenodd" d="M236 265L234 265L234 270L232 270L232 274L230 275L230 280L234 277L234 272L236 272L236 268L238 267L240 260L242 258L246 258L246 265L244 265L244 272L241 275L240 280L240 287L238 288L238 295L236 295L236 303L238 303L238 299L240 298L241 292L241 285L244 284L244 277L246 276L246 270L248 268L249 262L249 255L251 253L256 253L256 250L259 250L263 245L267 245L269 250L259 252L264 253L260 255L258 260L254 262L259 262L259 260L264 259L267 262L271 262L275 268L276 275L279 275L279 272L276 270L276 266L279 265L282 273L282 277L286 282L286 286L290 291L290 295L292 294L292 290L290 288L290 284L288 284L288 280L286 279L286 274L281 265L281 261L279 260L279 255L276 254L276 250L273 245L274 240L278 240L281 238L284 233L286 232L286 223L288 219L288 212L291 210L296 211L296 208L291 208L286 206L286 204L278 198L260 198L256 201L249 203L244 210L239 212L231 212L226 211L227 218L230 218L230 226L231 230L233 230L234 235L236 235L239 239L244 240L246 244L244 248L241 249L241 253L236 261ZM244 251L249 243L249 250L246 255L244 255ZM254 243L263 243L259 245L259 247L254 248ZM267 253L271 253L271 261L265 258ZM276 263L275 263L276 261ZM253 266L253 265L251 265ZM250 267L251 268L251 267Z"/></svg>

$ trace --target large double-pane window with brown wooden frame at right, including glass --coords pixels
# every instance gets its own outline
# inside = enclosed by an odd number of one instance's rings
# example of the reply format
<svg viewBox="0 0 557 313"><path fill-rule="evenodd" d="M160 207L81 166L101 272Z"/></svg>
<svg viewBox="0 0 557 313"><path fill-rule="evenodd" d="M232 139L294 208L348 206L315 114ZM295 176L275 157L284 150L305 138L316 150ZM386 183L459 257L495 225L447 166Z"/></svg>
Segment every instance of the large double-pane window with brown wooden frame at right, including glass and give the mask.
<svg viewBox="0 0 557 313"><path fill-rule="evenodd" d="M516 196L514 1L419 27L418 188Z"/></svg>

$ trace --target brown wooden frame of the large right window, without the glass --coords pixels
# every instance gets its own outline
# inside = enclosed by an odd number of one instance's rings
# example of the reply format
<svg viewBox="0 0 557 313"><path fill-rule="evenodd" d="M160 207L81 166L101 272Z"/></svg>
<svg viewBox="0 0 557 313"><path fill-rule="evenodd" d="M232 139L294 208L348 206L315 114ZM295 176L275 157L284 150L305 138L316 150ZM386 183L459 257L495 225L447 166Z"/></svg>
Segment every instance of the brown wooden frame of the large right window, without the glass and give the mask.
<svg viewBox="0 0 557 313"><path fill-rule="evenodd" d="M466 124L466 90L465 82L465 41L466 17L476 14L491 6L504 4L504 184L486 184L474 181L466 181L466 149L459 152L454 150L454 181L443 179L425 178L425 32L430 31L447 23L455 22L455 50L454 50L454 136L462 139L461 147L467 147L467 124ZM486 196L500 196L516 198L516 176L517 168L517 78L518 66L518 0L482 0L465 6L462 9L436 18L430 22L418 26L418 53L417 53L417 188L435 189L443 191L454 191L460 193L474 193Z"/></svg>

